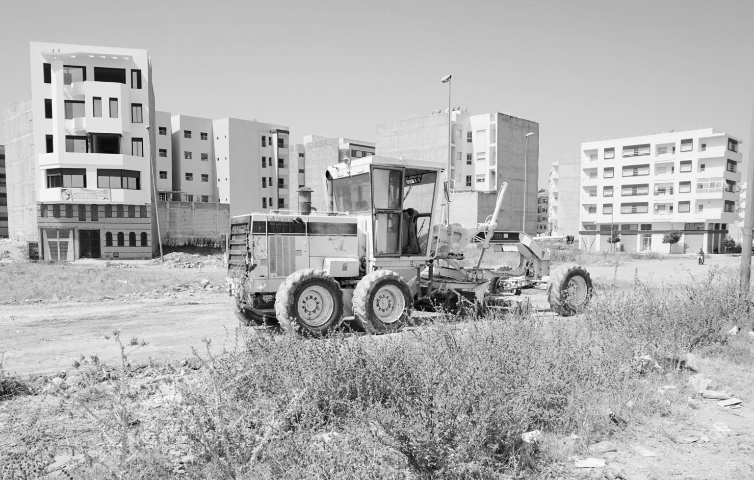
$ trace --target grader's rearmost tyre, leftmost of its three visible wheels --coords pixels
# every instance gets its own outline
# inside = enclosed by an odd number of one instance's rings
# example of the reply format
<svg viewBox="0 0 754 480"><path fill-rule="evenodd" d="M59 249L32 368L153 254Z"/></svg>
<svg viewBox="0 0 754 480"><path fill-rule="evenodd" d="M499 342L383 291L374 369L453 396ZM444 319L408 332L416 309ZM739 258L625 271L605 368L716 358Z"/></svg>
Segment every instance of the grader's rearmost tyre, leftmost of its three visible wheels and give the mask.
<svg viewBox="0 0 754 480"><path fill-rule="evenodd" d="M343 293L322 270L293 272L277 288L275 315L287 332L324 336L343 318Z"/></svg>

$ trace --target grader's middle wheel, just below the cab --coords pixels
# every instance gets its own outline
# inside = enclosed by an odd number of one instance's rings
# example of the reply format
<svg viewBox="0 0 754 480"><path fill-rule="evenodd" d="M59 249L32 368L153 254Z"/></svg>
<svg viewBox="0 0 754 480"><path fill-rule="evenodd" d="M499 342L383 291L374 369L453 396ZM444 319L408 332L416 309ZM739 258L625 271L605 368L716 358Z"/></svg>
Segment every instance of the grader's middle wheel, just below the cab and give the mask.
<svg viewBox="0 0 754 480"><path fill-rule="evenodd" d="M400 332L412 310L409 285L392 270L366 275L354 290L354 317L369 333Z"/></svg>

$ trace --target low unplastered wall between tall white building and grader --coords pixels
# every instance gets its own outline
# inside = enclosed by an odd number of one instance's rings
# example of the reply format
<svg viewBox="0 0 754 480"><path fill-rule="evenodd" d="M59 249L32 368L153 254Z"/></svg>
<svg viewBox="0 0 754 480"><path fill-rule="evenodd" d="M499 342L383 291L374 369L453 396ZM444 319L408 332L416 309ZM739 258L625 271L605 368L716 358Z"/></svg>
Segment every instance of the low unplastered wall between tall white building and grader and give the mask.
<svg viewBox="0 0 754 480"><path fill-rule="evenodd" d="M230 230L228 203L157 202L163 243L170 238L178 245L192 238L216 238Z"/></svg>

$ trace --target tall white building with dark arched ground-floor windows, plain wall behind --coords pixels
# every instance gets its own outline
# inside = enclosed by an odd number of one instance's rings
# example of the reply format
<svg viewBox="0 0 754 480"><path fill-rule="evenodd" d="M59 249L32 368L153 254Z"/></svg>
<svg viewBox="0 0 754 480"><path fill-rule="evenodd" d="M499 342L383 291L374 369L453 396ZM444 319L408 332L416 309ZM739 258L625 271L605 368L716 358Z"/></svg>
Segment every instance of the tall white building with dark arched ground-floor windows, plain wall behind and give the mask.
<svg viewBox="0 0 754 480"><path fill-rule="evenodd" d="M44 42L29 51L32 99L5 114L14 238L38 239L44 260L152 257L147 51Z"/></svg>

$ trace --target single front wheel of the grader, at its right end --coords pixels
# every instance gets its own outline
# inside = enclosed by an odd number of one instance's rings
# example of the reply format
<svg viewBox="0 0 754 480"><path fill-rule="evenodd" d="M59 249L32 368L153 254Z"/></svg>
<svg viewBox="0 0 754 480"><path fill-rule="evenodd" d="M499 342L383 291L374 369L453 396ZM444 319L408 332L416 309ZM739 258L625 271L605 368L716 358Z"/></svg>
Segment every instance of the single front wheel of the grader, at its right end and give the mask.
<svg viewBox="0 0 754 480"><path fill-rule="evenodd" d="M568 317L586 308L592 297L592 278L575 263L559 266L547 282L547 302L556 314Z"/></svg>

